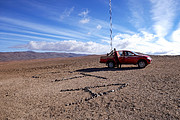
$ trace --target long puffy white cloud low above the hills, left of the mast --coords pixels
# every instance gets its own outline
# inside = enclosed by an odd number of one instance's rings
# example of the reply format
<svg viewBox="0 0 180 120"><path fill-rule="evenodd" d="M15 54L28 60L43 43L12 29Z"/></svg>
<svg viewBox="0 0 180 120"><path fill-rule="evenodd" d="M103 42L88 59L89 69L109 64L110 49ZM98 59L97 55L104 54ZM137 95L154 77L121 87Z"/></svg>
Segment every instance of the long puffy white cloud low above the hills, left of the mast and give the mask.
<svg viewBox="0 0 180 120"><path fill-rule="evenodd" d="M49 50L49 51L65 51L78 53L102 54L107 52L107 45L95 42L79 42L76 40L60 41L60 42L37 42L31 41L26 46L30 50ZM23 47L24 47L23 46Z"/></svg>

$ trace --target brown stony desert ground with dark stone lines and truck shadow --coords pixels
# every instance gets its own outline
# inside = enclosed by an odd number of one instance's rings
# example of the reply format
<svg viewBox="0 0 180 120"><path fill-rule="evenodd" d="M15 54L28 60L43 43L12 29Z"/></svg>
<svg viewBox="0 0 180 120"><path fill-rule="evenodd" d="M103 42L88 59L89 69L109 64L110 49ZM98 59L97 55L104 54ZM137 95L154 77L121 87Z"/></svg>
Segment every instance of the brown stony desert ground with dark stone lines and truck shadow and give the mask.
<svg viewBox="0 0 180 120"><path fill-rule="evenodd" d="M99 58L0 62L0 120L180 120L180 56L144 69Z"/></svg>

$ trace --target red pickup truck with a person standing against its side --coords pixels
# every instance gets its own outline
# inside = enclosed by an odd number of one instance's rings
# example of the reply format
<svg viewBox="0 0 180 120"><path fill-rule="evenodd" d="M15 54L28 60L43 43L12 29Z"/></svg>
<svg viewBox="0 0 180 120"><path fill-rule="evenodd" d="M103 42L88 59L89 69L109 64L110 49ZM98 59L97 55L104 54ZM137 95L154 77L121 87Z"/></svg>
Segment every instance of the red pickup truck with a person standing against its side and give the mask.
<svg viewBox="0 0 180 120"><path fill-rule="evenodd" d="M111 51L107 56L101 56L100 63L106 63L109 68L119 67L121 64L134 64L144 68L152 62L148 55L137 54L128 50Z"/></svg>

